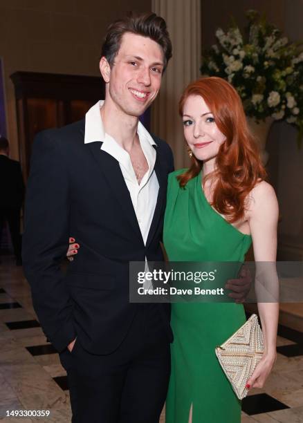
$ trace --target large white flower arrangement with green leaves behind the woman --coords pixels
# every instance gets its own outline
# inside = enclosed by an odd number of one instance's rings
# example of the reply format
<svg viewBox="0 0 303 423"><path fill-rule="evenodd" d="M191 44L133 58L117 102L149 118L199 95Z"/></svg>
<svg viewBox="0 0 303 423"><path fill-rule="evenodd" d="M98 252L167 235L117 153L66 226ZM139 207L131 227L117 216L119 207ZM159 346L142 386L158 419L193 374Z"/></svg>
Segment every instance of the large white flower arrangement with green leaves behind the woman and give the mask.
<svg viewBox="0 0 303 423"><path fill-rule="evenodd" d="M233 25L216 31L217 44L203 54L201 73L227 79L246 115L286 120L303 139L303 51L255 10L247 12L247 35Z"/></svg>

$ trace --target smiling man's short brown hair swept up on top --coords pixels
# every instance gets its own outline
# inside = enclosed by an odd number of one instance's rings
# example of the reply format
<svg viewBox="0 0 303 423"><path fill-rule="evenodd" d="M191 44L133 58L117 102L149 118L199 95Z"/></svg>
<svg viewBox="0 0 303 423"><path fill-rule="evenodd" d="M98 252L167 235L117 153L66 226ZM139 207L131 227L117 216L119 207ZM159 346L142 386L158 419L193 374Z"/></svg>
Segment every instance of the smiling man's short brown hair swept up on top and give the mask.
<svg viewBox="0 0 303 423"><path fill-rule="evenodd" d="M113 61L118 54L122 36L126 32L148 37L163 50L164 69L169 59L172 57L172 41L169 39L165 20L157 16L156 13L137 14L129 12L125 17L111 23L107 30L107 35L102 46L101 57L106 57L109 66L113 65Z"/></svg>

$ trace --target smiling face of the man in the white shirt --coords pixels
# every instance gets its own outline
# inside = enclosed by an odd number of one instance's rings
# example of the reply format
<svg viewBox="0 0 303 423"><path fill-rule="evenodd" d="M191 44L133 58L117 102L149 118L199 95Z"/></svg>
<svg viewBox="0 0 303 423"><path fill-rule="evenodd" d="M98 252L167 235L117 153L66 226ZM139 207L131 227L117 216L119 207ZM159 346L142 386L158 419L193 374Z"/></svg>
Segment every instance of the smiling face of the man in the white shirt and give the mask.
<svg viewBox="0 0 303 423"><path fill-rule="evenodd" d="M163 50L156 41L126 32L113 65L107 66L107 97L120 111L139 117L158 94L163 65Z"/></svg>

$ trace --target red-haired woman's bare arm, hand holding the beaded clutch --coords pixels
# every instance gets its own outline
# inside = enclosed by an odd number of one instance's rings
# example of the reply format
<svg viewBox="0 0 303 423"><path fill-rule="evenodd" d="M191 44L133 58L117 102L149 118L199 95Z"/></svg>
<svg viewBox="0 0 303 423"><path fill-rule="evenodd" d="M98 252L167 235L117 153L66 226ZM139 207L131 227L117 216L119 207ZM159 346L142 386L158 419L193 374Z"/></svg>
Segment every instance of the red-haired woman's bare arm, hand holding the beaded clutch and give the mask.
<svg viewBox="0 0 303 423"><path fill-rule="evenodd" d="M248 385L255 388L264 386L276 359L279 317L279 281L275 267L278 216L279 207L275 191L267 182L262 181L250 193L248 211L256 262L255 291L264 334L264 356L248 379Z"/></svg>

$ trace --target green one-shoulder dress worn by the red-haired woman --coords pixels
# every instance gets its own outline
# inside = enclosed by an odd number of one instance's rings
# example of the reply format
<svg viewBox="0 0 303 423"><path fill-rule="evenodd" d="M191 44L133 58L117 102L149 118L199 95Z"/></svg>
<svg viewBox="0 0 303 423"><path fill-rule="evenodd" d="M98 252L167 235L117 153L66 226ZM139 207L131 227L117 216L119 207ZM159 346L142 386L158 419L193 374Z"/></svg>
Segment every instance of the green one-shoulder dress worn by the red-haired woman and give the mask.
<svg viewBox="0 0 303 423"><path fill-rule="evenodd" d="M169 261L244 261L251 236L230 225L208 203L201 173L185 189L169 174L164 245ZM237 275L235 275L236 277ZM172 303L172 370L166 423L241 422L241 402L223 373L214 348L246 321L237 303Z"/></svg>

